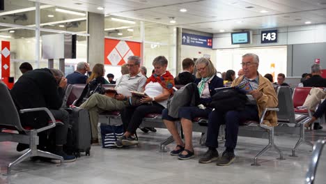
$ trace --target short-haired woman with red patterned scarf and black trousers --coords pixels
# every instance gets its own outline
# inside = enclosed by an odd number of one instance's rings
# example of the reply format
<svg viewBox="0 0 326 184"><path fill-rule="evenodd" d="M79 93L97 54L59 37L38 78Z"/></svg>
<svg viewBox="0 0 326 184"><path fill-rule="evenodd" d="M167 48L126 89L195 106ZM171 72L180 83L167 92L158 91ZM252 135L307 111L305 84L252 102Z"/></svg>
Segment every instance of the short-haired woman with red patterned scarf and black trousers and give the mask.
<svg viewBox="0 0 326 184"><path fill-rule="evenodd" d="M142 105L136 108L125 108L122 112L125 133L116 141L117 147L133 146L138 144L134 134L146 114L161 114L166 108L167 99L173 93L174 78L166 71L168 61L164 56L157 56L153 61L155 73L150 76L144 86L146 96L141 98Z"/></svg>

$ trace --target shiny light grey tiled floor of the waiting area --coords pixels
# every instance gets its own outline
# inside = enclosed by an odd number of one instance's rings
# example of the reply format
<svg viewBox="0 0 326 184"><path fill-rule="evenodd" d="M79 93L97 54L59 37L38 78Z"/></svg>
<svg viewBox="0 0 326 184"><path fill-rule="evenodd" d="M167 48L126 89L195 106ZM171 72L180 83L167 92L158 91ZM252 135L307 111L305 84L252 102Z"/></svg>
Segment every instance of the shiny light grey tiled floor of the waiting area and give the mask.
<svg viewBox="0 0 326 184"><path fill-rule="evenodd" d="M322 139L326 131L306 132L307 139ZM291 158L290 148L295 145L294 135L277 136L286 160L276 160L279 155L270 151L259 159L260 167L251 166L252 158L267 144L267 139L238 138L237 158L228 167L214 163L199 164L199 155L205 152L200 146L199 133L194 133L196 158L178 160L169 153L158 152L160 141L169 136L167 130L156 133L139 132L140 144L134 148L91 148L91 156L82 156L76 162L56 166L48 162L22 162L13 168L13 176L4 176L6 165L22 153L15 151L16 144L0 143L0 183L304 183L310 161L311 148L300 146L297 158ZM223 144L221 144L223 145ZM171 150L175 144L168 146ZM223 147L219 148L222 153ZM324 153L325 155L326 153ZM326 183L326 158L322 158L316 183ZM319 181L319 182L318 182Z"/></svg>

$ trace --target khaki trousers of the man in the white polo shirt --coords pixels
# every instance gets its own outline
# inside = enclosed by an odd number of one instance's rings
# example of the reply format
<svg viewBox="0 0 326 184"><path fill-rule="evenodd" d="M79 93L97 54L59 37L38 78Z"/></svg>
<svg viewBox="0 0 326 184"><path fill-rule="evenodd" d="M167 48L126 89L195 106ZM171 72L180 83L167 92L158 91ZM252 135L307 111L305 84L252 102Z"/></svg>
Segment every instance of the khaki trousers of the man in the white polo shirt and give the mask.
<svg viewBox="0 0 326 184"><path fill-rule="evenodd" d="M80 107L82 109L88 109L92 139L98 139L98 114L104 111L121 111L125 108L125 102L95 93L86 102L81 104Z"/></svg>

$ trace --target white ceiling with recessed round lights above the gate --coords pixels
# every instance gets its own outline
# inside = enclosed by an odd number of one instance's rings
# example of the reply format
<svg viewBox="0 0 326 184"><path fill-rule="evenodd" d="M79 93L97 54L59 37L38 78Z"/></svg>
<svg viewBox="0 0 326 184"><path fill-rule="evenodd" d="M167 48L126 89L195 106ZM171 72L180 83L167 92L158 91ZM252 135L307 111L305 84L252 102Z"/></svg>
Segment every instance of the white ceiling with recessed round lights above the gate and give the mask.
<svg viewBox="0 0 326 184"><path fill-rule="evenodd" d="M40 0L75 10L219 33L326 23L326 0ZM104 10L98 10L99 6ZM252 8L246 8L251 6ZM180 8L186 8L181 13ZM267 10L267 13L260 13ZM169 23L175 17L176 24Z"/></svg>

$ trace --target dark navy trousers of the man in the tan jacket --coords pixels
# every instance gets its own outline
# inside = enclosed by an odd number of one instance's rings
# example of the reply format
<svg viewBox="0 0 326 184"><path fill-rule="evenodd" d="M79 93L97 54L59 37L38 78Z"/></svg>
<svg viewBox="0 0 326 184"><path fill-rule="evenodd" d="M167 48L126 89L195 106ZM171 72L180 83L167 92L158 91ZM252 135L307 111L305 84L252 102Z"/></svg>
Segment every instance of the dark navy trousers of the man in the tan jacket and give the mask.
<svg viewBox="0 0 326 184"><path fill-rule="evenodd" d="M259 120L256 105L248 105L243 111L212 111L208 117L208 130L205 145L211 148L217 148L219 146L217 142L217 137L219 136L219 127L222 124L225 124L225 147L234 149L238 141L239 123L249 120Z"/></svg>

